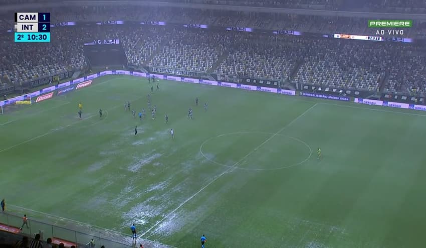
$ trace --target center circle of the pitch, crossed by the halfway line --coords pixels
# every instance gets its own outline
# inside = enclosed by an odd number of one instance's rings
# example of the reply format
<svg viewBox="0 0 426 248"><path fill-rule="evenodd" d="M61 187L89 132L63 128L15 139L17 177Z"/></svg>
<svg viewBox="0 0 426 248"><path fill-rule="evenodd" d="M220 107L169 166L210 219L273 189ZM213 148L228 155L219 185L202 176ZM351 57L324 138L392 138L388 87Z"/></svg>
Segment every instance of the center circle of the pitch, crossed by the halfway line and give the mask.
<svg viewBox="0 0 426 248"><path fill-rule="evenodd" d="M205 159L214 164L230 169L253 171L298 166L312 156L312 148L304 141L266 132L218 135L205 140L199 151Z"/></svg>

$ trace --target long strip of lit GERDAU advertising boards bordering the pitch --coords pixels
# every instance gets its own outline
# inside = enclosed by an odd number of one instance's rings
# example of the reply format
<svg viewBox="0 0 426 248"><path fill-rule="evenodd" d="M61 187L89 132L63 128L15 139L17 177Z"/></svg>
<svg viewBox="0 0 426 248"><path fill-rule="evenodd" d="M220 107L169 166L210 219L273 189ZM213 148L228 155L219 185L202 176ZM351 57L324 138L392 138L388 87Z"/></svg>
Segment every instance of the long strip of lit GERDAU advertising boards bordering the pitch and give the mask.
<svg viewBox="0 0 426 248"><path fill-rule="evenodd" d="M70 80L65 83L60 83L58 85L50 86L41 90L37 90L29 94L25 94L25 95L17 96L4 101L0 101L0 106L14 104L17 101L24 101L25 99L34 98L34 97L37 97L35 102L47 100L54 96L55 94L54 91L56 90L57 90L56 92L57 95L61 95L73 90L78 90L83 87L89 86L92 83L93 79L106 76L106 75L130 75L130 76L145 77L145 78L154 76L156 79L172 80L172 81L179 81L179 82L185 82L185 83L198 83L198 84L215 85L215 86L238 88L238 89L245 89L245 90L264 91L264 92L278 93L278 94L285 94L285 95L296 95L295 90L285 90L285 89L279 89L279 88L270 88L270 87L246 85L246 84L240 84L240 83L222 82L222 81L212 81L212 80L196 79L196 78L189 78L189 77L170 76L170 75L163 75L163 74L156 74L156 73L144 73L144 72L135 72L135 71L127 71L127 70L106 70L106 71L94 73L82 78ZM322 99L349 101L349 97L347 96L336 96L336 95L309 93L309 92L300 92L299 95L306 96L306 97L322 98ZM370 99L362 99L362 98L355 98L354 102L360 103L360 104L380 105L380 106L397 107L397 108L409 108L409 109L426 111L425 105L370 100Z"/></svg>

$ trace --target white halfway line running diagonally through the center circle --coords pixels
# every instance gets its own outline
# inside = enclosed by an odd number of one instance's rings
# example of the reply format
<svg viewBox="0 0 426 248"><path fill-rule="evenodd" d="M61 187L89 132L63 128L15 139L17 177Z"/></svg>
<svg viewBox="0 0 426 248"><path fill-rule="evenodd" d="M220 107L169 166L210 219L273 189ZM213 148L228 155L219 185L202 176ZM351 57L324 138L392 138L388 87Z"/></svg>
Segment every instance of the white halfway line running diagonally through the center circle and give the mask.
<svg viewBox="0 0 426 248"><path fill-rule="evenodd" d="M274 138L275 136L277 136L279 133L281 133L284 129L286 129L288 126L290 126L294 121L296 121L297 119L299 119L300 117L302 117L303 115L305 115L309 110L311 110L312 108L314 108L316 105L318 105L318 103L315 103L314 105L312 105L310 108L306 109L303 113L301 113L299 116L297 116L296 118L294 118L292 121L290 121L289 123L286 124L286 126L284 126L282 129L280 129L277 133L273 134L271 137L269 137L267 140L265 140L264 142L262 142L262 144L260 144L258 147L256 147L255 149L253 149L250 153L248 153L246 156L244 156L242 159L240 159L239 161L237 161L237 163L235 163L234 165L232 165L229 169L225 170L224 172L222 172L221 174L219 174L218 176L216 176L213 180L211 180L209 183L207 183L206 185L204 185L204 187L202 187L200 190L198 190L197 192L195 192L195 194L191 195L190 197L188 197L185 201L183 201L182 203L180 203L179 206L177 206L175 209L173 209L171 212L169 212L167 215L165 215L162 219L158 220L153 226L151 226L150 228L148 228L146 231L144 231L142 233L142 235L140 235L140 237L144 236L146 233L148 233L149 231L151 231L152 229L154 229L156 226L158 226L161 222L163 222L165 219L167 219L170 215L172 215L174 212L176 212L177 210L179 210L183 205L185 205L188 201L190 201L192 198L194 198L195 196L197 196L201 191L203 191L205 188L207 188L208 186L210 186L212 183L216 182L216 180L218 180L220 177L222 177L223 175L225 175L226 173L232 171L233 169L235 169L235 167L241 163L241 161L243 161L244 159L246 159L247 157L249 157L252 153L254 153L256 150L258 150L261 146L265 145L268 141L270 141L272 138Z"/></svg>

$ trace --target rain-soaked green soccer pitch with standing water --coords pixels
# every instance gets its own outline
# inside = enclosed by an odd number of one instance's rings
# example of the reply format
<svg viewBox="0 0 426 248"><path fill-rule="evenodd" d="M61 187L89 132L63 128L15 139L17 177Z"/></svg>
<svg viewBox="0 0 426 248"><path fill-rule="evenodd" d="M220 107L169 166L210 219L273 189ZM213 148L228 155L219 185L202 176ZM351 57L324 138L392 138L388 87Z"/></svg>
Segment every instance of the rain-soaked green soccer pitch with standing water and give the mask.
<svg viewBox="0 0 426 248"><path fill-rule="evenodd" d="M134 222L143 238L181 248L199 247L202 234L206 248L426 243L422 112L155 85L108 76L0 116L0 197L9 209L129 237ZM125 111L127 101L146 118Z"/></svg>

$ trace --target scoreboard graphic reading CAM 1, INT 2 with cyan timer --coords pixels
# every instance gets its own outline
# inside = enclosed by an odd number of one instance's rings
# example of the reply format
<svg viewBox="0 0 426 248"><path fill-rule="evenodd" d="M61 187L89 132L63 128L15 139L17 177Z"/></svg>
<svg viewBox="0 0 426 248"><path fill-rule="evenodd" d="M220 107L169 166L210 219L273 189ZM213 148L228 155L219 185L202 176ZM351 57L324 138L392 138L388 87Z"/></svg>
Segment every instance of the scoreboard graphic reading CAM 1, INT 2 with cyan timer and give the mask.
<svg viewBox="0 0 426 248"><path fill-rule="evenodd" d="M15 42L50 42L50 13L15 13Z"/></svg>

